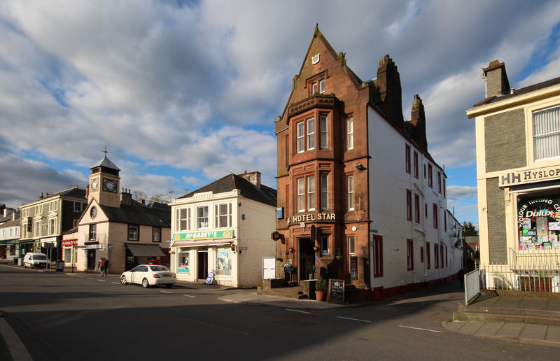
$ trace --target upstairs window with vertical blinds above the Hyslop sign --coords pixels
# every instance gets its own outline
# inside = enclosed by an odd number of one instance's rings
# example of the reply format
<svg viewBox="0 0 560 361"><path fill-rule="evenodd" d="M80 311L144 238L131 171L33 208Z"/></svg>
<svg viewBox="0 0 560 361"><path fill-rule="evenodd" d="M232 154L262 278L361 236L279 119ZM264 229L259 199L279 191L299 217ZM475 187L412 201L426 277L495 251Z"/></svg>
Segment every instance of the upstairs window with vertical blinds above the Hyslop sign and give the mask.
<svg viewBox="0 0 560 361"><path fill-rule="evenodd" d="M533 111L533 160L560 157L560 106Z"/></svg>

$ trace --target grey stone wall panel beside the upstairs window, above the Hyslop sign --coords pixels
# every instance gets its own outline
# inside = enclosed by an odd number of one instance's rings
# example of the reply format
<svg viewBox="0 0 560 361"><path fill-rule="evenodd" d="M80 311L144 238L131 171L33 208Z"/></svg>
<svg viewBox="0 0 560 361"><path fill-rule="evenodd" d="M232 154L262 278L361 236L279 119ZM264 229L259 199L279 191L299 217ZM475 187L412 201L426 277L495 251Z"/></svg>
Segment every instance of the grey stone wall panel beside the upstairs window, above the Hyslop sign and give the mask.
<svg viewBox="0 0 560 361"><path fill-rule="evenodd" d="M486 171L526 167L525 134L523 109L484 118Z"/></svg>

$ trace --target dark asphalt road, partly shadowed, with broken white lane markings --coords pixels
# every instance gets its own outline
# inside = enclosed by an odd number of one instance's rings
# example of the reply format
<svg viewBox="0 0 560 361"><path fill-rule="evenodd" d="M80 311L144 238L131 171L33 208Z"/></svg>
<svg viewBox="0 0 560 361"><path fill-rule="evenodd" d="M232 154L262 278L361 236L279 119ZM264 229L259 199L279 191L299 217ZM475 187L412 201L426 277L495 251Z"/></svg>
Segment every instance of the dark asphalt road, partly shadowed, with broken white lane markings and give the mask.
<svg viewBox="0 0 560 361"><path fill-rule="evenodd" d="M0 312L36 361L558 358L557 348L445 330L461 293L437 290L316 311L220 299L254 290L193 283L144 289L120 285L118 276L0 264Z"/></svg>

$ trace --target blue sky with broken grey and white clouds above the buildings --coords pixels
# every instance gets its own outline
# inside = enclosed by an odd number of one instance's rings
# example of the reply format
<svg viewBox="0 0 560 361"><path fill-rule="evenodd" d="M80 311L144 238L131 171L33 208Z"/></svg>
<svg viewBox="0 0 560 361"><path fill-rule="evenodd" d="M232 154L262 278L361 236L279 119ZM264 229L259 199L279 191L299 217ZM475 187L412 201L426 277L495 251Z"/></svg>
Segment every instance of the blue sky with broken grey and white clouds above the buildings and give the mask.
<svg viewBox="0 0 560 361"><path fill-rule="evenodd" d="M169 199L229 172L276 187L274 120L315 25L362 80L388 54L402 108L426 107L447 206L478 223L481 69L512 87L560 76L559 1L0 0L0 204L85 188L104 156L121 187Z"/></svg>

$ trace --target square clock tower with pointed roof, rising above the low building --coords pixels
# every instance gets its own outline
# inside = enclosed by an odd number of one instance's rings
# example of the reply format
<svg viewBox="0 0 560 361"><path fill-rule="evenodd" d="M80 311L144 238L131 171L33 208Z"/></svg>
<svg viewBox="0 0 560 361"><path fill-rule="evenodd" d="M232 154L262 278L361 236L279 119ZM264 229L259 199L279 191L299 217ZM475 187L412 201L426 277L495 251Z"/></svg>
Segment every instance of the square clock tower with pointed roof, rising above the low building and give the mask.
<svg viewBox="0 0 560 361"><path fill-rule="evenodd" d="M97 200L99 204L110 207L118 207L120 204L118 189L120 169L107 158L97 162L90 168L90 195L87 201Z"/></svg>

